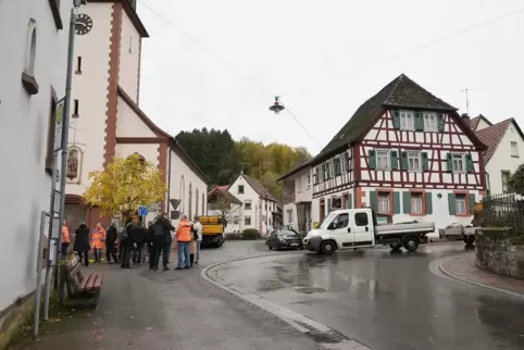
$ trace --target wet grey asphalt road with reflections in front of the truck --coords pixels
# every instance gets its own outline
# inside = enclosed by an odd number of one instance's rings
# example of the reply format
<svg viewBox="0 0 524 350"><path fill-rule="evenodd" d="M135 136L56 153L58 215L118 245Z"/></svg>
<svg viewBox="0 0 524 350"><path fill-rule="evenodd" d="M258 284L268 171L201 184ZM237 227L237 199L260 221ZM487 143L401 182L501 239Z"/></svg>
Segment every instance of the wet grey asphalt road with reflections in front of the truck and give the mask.
<svg viewBox="0 0 524 350"><path fill-rule="evenodd" d="M463 251L453 242L400 254L282 252L217 274L373 350L524 349L524 300L439 276L438 260Z"/></svg>

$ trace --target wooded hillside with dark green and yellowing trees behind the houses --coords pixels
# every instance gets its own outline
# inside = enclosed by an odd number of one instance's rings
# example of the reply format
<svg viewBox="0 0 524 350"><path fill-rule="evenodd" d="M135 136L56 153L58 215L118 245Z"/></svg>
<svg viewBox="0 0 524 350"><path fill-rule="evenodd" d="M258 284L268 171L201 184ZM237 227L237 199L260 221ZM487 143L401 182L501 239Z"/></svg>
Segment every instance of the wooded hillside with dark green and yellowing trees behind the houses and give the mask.
<svg viewBox="0 0 524 350"><path fill-rule="evenodd" d="M277 142L263 145L248 138L234 140L227 129L182 132L176 139L211 179L213 185L228 185L244 170L259 179L276 198L282 185L276 179L295 165L311 158L303 147Z"/></svg>

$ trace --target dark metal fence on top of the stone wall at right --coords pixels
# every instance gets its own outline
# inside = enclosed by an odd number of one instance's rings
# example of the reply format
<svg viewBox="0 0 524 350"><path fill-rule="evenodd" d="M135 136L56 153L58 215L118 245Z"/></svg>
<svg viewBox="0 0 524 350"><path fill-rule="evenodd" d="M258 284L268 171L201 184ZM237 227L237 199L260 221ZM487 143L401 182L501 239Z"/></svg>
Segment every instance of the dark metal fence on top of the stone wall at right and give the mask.
<svg viewBox="0 0 524 350"><path fill-rule="evenodd" d="M509 226L524 230L524 199L513 193L489 195L483 200L483 226Z"/></svg>

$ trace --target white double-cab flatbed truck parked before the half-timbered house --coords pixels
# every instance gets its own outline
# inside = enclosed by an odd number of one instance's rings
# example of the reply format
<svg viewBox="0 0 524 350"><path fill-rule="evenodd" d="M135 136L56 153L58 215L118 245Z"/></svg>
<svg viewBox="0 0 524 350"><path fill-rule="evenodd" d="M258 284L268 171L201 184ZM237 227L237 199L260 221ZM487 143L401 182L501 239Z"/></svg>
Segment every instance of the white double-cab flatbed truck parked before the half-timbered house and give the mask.
<svg viewBox="0 0 524 350"><path fill-rule="evenodd" d="M402 247L413 252L435 232L435 223L377 225L371 208L345 209L330 212L303 239L305 249L320 254L336 250L372 248L389 245L394 251Z"/></svg>

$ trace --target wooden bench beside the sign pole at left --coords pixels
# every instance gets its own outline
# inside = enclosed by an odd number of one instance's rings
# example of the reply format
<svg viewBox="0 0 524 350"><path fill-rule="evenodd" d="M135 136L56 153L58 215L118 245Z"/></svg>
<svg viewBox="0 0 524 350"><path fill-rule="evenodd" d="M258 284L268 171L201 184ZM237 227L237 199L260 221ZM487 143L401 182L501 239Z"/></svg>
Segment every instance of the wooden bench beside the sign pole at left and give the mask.
<svg viewBox="0 0 524 350"><path fill-rule="evenodd" d="M102 289L103 275L95 272L84 274L80 267L82 264L77 258L65 265L64 277L68 296L66 305L77 309L95 309Z"/></svg>

